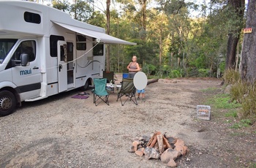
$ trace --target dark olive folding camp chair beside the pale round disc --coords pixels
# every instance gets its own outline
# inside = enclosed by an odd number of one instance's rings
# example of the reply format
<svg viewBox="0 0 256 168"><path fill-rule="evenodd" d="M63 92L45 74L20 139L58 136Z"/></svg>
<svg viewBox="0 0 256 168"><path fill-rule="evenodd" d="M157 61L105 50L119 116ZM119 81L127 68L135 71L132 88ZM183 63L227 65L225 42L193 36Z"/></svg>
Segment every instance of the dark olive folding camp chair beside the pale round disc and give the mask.
<svg viewBox="0 0 256 168"><path fill-rule="evenodd" d="M120 99L121 105L123 106L129 99L130 101L138 105L135 97L135 93L136 93L136 88L135 88L135 85L133 84L133 79L123 79L123 81L121 82L121 88L117 94L116 102L118 102L118 99ZM121 100L122 96L127 97L124 103Z"/></svg>

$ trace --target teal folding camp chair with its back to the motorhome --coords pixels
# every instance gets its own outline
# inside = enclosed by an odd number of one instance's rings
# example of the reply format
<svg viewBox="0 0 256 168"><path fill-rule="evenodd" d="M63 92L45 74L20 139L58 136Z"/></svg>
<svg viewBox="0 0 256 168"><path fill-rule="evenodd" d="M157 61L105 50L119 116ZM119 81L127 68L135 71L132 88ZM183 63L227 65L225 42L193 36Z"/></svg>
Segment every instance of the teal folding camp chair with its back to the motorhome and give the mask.
<svg viewBox="0 0 256 168"><path fill-rule="evenodd" d="M92 90L94 93L94 104L97 106L101 102L105 102L108 104L109 93L106 91L107 79L98 79L94 78L94 89ZM99 100L99 101L98 101ZM98 104L97 104L98 101Z"/></svg>

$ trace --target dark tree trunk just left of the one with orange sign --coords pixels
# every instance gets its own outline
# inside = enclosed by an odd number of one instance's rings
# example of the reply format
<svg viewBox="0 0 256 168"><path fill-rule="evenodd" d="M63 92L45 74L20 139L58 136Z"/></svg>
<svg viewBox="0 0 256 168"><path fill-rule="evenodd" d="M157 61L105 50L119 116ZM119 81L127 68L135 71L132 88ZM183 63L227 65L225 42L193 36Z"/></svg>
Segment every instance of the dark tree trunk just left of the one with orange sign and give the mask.
<svg viewBox="0 0 256 168"><path fill-rule="evenodd" d="M238 40L240 37L241 28L243 26L244 18L244 0L229 0L228 5L230 9L233 10L237 19L240 20L239 25L233 26L233 30L228 34L227 40L227 57L226 57L226 67L225 69L235 69L236 67L236 47L238 45Z"/></svg>

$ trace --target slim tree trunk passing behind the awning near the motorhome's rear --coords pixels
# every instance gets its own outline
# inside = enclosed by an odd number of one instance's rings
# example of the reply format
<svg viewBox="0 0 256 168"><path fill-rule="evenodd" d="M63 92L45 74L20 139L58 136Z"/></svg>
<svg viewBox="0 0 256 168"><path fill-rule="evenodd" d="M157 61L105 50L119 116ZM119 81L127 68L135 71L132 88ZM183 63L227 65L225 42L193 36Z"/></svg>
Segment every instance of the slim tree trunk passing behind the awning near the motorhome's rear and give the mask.
<svg viewBox="0 0 256 168"><path fill-rule="evenodd" d="M107 34L110 34L110 0L107 0ZM110 46L106 50L106 71L110 71Z"/></svg>

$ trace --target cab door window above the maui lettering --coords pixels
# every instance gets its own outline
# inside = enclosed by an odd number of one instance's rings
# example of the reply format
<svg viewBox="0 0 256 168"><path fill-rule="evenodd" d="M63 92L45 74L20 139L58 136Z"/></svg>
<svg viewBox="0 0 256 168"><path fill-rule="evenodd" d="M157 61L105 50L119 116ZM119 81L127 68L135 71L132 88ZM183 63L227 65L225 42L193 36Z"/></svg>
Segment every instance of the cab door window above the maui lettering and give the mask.
<svg viewBox="0 0 256 168"><path fill-rule="evenodd" d="M29 55L29 61L36 59L36 42L34 40L23 41L20 43L15 53L12 55L12 59L20 60L20 55L26 53Z"/></svg>

